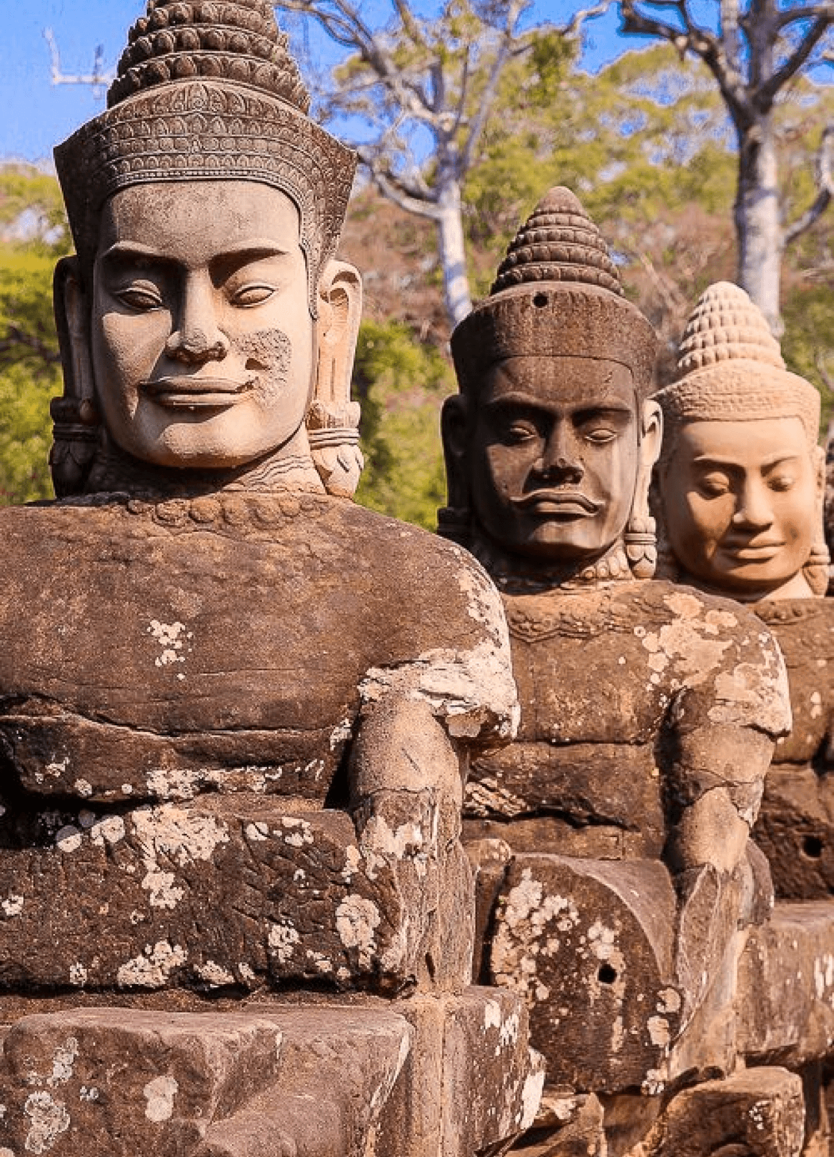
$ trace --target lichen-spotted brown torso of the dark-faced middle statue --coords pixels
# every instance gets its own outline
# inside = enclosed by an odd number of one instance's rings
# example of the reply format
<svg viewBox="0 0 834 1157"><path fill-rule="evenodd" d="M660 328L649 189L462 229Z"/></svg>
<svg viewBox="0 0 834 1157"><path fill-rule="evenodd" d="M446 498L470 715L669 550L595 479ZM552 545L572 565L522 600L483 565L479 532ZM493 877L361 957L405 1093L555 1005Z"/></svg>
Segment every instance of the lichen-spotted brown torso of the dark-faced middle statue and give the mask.
<svg viewBox="0 0 834 1157"><path fill-rule="evenodd" d="M522 724L516 743L475 762L471 837L657 857L679 787L669 778L676 735L723 722L784 727L773 641L738 604L626 582L504 595L504 605Z"/></svg>

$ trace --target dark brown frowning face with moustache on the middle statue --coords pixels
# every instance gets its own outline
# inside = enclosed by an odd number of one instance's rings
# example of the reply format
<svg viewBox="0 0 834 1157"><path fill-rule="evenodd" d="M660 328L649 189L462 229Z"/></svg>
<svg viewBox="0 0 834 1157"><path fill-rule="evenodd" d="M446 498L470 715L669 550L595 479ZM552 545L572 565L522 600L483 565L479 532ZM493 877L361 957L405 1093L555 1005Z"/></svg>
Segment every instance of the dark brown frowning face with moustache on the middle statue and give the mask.
<svg viewBox="0 0 834 1157"><path fill-rule="evenodd" d="M507 359L482 385L470 440L478 521L512 554L593 560L628 519L639 432L625 366Z"/></svg>

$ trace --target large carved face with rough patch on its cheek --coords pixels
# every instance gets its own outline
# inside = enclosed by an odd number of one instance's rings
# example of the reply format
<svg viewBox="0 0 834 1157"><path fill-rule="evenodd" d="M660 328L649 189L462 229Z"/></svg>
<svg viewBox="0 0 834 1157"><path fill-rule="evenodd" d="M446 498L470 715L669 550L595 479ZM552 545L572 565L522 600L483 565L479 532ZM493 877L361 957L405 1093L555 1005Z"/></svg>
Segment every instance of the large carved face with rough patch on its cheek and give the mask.
<svg viewBox="0 0 834 1157"><path fill-rule="evenodd" d="M136 185L106 204L91 358L112 439L163 466L294 452L312 388L298 211L254 182Z"/></svg>

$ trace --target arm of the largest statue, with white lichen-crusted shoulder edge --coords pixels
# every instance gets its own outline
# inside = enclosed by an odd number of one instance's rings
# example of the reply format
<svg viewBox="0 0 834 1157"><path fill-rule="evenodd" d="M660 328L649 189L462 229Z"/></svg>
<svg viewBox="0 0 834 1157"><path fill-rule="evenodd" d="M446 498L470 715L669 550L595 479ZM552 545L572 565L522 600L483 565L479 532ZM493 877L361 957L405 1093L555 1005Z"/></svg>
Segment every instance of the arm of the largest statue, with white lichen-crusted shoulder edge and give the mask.
<svg viewBox="0 0 834 1157"><path fill-rule="evenodd" d="M463 790L473 751L508 743L518 722L503 609L472 566L465 577L479 641L372 669L360 686L350 813L367 871L384 865L397 882L398 971L418 986L470 981L474 887L459 839Z"/></svg>

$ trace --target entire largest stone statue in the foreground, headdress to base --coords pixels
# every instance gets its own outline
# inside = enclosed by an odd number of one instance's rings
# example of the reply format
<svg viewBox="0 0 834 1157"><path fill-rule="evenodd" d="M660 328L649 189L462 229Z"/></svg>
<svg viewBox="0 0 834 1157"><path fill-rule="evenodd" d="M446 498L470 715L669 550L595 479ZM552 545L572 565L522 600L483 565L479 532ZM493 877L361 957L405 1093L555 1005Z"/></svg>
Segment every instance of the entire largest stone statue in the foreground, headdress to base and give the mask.
<svg viewBox="0 0 834 1157"><path fill-rule="evenodd" d="M60 500L0 513L3 1155L468 1157L536 1107L521 1002L466 987L501 604L349 501L354 161L307 105L266 0L150 0L57 150Z"/></svg>

